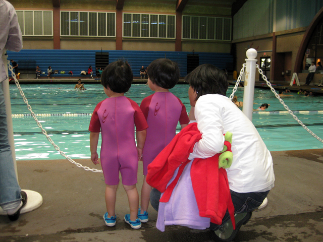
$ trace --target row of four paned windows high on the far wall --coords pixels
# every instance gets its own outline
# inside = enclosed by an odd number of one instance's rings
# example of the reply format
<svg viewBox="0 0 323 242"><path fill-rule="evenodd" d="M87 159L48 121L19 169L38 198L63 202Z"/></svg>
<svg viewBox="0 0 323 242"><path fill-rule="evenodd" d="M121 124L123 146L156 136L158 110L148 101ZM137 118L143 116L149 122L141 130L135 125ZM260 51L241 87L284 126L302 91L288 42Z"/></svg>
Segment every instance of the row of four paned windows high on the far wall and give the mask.
<svg viewBox="0 0 323 242"><path fill-rule="evenodd" d="M17 10L24 36L52 36L52 11ZM231 40L231 18L183 16L183 39ZM123 37L175 39L176 16L123 14ZM61 36L116 37L116 13L61 11Z"/></svg>

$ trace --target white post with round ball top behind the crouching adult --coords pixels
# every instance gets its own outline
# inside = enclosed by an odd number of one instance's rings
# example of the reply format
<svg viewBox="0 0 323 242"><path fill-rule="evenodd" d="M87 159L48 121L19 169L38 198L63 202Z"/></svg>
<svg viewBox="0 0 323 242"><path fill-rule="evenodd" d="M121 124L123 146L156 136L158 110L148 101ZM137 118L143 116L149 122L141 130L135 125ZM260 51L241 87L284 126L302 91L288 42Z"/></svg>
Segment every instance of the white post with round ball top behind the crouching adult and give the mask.
<svg viewBox="0 0 323 242"><path fill-rule="evenodd" d="M252 121L253 109L253 94L254 94L254 80L256 75L257 51L255 49L248 49L246 52L246 71L243 92L243 108L242 112Z"/></svg>

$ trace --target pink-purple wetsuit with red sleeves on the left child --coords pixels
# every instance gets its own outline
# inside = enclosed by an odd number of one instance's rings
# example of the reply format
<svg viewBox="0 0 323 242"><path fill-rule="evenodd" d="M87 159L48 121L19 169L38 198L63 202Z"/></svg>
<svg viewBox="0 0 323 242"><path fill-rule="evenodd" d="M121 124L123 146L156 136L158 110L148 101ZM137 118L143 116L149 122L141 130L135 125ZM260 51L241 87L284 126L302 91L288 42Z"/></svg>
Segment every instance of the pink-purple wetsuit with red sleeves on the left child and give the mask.
<svg viewBox="0 0 323 242"><path fill-rule="evenodd" d="M121 96L106 98L99 102L92 114L89 131L101 131L101 165L107 185L119 184L119 170L122 184L137 183L138 151L134 126L137 131L148 128L145 116L138 104Z"/></svg>

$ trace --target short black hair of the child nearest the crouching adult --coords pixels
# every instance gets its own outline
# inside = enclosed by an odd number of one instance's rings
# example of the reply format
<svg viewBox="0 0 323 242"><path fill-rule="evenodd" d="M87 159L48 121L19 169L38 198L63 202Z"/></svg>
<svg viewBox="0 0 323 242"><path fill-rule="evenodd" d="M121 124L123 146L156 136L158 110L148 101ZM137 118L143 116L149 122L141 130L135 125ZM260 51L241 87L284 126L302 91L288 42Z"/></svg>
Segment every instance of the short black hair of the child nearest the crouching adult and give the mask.
<svg viewBox="0 0 323 242"><path fill-rule="evenodd" d="M147 67L147 75L150 81L158 87L171 89L180 79L180 68L170 59L155 59Z"/></svg>

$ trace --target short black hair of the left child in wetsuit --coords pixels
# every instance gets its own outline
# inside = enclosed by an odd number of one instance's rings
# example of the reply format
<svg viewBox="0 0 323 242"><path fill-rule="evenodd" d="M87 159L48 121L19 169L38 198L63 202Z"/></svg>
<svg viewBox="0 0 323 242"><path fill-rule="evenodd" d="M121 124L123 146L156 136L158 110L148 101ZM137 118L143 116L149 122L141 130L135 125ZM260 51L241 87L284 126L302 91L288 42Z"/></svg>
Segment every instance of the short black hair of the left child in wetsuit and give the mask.
<svg viewBox="0 0 323 242"><path fill-rule="evenodd" d="M101 77L103 87L109 87L117 93L128 92L133 80L131 67L122 59L115 61L104 68Z"/></svg>

